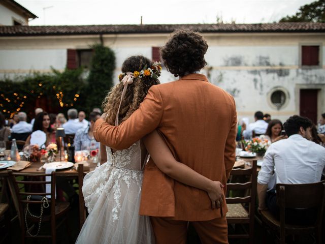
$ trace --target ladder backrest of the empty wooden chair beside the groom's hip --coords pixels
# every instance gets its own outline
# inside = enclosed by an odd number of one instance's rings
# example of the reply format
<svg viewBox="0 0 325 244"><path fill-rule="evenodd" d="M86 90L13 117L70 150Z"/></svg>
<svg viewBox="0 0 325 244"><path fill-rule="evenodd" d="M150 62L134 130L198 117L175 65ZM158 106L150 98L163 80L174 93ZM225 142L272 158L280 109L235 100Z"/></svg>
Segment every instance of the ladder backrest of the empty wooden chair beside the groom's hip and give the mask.
<svg viewBox="0 0 325 244"><path fill-rule="evenodd" d="M254 218L253 214L255 209L255 201L256 201L256 184L257 184L257 177L256 177L256 164L257 161L253 160L251 162L251 167L248 168L238 168L232 169L231 175L244 175L247 179L246 182L235 182L235 183L227 183L227 192L234 190L234 191L243 191L245 192L243 197L226 197L226 202L233 204L233 203L245 203L249 204L249 213L250 218ZM229 194L228 194L229 195Z"/></svg>

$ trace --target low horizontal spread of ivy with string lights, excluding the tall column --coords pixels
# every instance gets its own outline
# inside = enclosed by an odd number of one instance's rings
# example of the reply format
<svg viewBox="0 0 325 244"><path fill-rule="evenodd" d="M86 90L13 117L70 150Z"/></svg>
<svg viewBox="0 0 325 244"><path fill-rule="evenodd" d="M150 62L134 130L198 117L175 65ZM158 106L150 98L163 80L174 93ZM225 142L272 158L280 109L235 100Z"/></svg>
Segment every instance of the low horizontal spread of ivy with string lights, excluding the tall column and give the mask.
<svg viewBox="0 0 325 244"><path fill-rule="evenodd" d="M52 69L48 74L0 80L0 111L8 118L19 111L32 116L36 107L49 113L82 108L85 98L81 94L86 86L82 72L82 68L63 72Z"/></svg>

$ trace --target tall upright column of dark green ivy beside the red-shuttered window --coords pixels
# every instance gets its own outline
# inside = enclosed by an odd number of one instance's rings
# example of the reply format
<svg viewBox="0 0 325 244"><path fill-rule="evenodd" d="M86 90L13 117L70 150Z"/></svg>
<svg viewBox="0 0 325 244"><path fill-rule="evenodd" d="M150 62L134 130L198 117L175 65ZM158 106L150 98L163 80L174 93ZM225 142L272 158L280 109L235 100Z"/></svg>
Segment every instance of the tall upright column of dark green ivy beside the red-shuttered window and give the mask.
<svg viewBox="0 0 325 244"><path fill-rule="evenodd" d="M92 46L94 55L91 60L88 76L86 108L91 111L94 107L101 107L108 90L113 86L115 70L115 53L101 44Z"/></svg>

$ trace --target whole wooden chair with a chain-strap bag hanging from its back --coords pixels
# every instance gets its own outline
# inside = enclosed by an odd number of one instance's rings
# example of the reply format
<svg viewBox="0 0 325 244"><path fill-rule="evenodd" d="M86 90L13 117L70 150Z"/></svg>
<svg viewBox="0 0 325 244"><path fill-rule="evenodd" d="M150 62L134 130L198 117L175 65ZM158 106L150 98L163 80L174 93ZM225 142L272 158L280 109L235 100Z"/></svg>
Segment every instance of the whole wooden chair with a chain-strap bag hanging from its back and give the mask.
<svg viewBox="0 0 325 244"><path fill-rule="evenodd" d="M13 201L16 207L16 210L18 212L18 219L20 223L20 228L21 228L21 237L22 237L22 243L25 243L26 238L51 238L51 243L56 242L56 228L58 228L62 223L66 224L67 231L68 231L68 236L70 237L70 232L69 232L69 226L67 222L67 212L69 210L70 203L69 202L56 202L55 201L55 171L53 171L51 174L31 174L31 173L13 173L11 170L8 171L9 173L9 182L10 182L10 188L12 189L11 191L13 192ZM45 177L45 176L51 176L51 181L25 181L25 180L17 180L16 176L23 176L29 177L32 179L33 177L37 180L40 179L40 177ZM51 184L51 192L25 192L21 191L19 189L18 184L22 184L24 186L28 185L38 185L38 186L44 186L45 184ZM25 187L25 189L28 189ZM50 195L50 199L45 199L43 197ZM34 199L29 199L28 197L34 197ZM30 210L30 208L35 208L35 209L41 209L41 204L46 205L46 202L48 202L49 207L48 208L43 208L45 212L43 212L43 216L40 222L40 218L36 218L35 216L40 216L40 213L37 212L34 215L31 216L29 214L26 214L27 207ZM28 205L27 205L28 204ZM48 210L46 212L46 210ZM32 210L31 210L32 212ZM27 211L28 213L28 211ZM33 214L33 213L31 213ZM27 216L27 219L25 219L25 216ZM62 217L62 218L61 218ZM58 218L61 218L61 221L57 223ZM39 230L42 227L43 222L50 222L51 226L51 233L50 235L38 235ZM31 227L27 227L27 223L33 223ZM40 228L39 228L40 224ZM33 227L36 227L33 230ZM27 229L28 228L28 229ZM30 232L33 232L29 234ZM35 233L37 232L36 236Z"/></svg>

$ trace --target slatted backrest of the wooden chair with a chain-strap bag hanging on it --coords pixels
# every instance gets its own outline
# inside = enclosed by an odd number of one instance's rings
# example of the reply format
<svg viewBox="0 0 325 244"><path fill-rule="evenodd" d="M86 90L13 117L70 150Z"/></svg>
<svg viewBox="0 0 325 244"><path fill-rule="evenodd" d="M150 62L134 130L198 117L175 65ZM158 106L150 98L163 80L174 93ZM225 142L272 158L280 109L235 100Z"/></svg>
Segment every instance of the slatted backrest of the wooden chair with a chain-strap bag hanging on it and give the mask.
<svg viewBox="0 0 325 244"><path fill-rule="evenodd" d="M43 204L41 198L47 195L51 196L51 198L48 199L48 203L50 205L49 206L50 218L51 221L54 221L55 223L55 171L53 171L51 174L41 174L41 173L32 174L32 173L13 173L11 170L9 170L8 174L9 174L10 189L11 192L14 193L12 198L13 198L15 208L18 212L18 218L22 230L24 232L26 231L26 227L25 227L26 205L29 204L29 207L41 206L41 204ZM51 181L46 181L46 176L51 176ZM51 184L51 192L46 192L46 190L39 191L40 189L46 189L45 184ZM28 196L34 196L34 198L27 200Z"/></svg>

